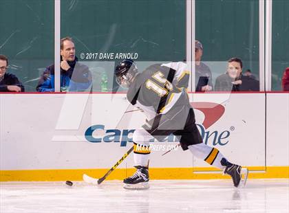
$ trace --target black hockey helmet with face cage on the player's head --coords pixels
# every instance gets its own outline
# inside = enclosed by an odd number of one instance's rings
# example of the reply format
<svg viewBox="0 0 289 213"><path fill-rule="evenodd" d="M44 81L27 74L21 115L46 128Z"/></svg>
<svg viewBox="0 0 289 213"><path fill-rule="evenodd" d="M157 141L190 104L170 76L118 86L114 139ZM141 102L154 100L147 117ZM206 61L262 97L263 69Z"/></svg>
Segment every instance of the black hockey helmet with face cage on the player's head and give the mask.
<svg viewBox="0 0 289 213"><path fill-rule="evenodd" d="M121 87L129 87L131 85L131 80L137 73L138 68L131 59L122 60L122 62L120 62L114 70L116 82Z"/></svg>

